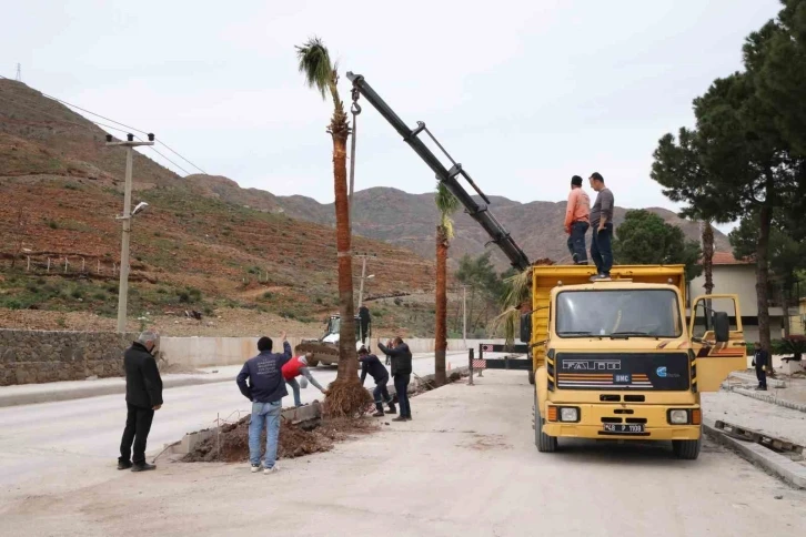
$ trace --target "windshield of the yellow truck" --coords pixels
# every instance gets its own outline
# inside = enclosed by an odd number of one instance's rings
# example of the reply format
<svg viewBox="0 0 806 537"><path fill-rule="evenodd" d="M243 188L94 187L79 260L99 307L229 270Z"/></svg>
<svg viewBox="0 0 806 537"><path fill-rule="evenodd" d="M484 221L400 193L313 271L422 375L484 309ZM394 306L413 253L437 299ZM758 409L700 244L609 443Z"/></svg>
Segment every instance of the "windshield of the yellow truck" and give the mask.
<svg viewBox="0 0 806 537"><path fill-rule="evenodd" d="M677 295L669 290L564 291L557 294L560 337L679 337Z"/></svg>

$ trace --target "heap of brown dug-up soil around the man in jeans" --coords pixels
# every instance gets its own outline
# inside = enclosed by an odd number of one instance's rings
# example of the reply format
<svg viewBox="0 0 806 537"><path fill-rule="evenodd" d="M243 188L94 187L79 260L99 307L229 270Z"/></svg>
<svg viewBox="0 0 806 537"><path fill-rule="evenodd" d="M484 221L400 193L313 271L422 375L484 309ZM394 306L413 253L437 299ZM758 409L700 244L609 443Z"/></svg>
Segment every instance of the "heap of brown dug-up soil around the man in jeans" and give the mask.
<svg viewBox="0 0 806 537"><path fill-rule="evenodd" d="M244 416L238 423L224 425L220 438L215 436L202 442L184 456L184 463L243 463L249 460L249 419ZM371 434L380 424L371 418L325 419L311 429L283 423L280 426L278 458L296 458L314 453L330 452L336 442L344 442L360 435ZM216 448L220 442L220 450ZM261 435L265 445L265 430Z"/></svg>

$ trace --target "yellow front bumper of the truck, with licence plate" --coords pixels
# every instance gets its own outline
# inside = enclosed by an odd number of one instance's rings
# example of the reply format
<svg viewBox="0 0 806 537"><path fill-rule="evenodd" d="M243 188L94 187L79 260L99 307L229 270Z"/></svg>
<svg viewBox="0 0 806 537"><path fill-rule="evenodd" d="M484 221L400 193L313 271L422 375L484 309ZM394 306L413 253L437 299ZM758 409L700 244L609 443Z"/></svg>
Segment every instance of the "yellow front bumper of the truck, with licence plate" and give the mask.
<svg viewBox="0 0 806 537"><path fill-rule="evenodd" d="M551 406L551 404L548 405ZM580 409L578 423L545 422L543 432L548 436L619 439L619 440L696 440L702 430L701 425L672 425L667 414L672 408L699 409L698 405L576 405L563 404ZM616 411L618 413L616 413ZM626 414L626 412L632 413ZM557 415L560 413L557 412ZM689 413L691 415L691 413ZM635 424L643 423L643 433L618 434L605 430L605 423ZM629 421L627 421L629 419Z"/></svg>

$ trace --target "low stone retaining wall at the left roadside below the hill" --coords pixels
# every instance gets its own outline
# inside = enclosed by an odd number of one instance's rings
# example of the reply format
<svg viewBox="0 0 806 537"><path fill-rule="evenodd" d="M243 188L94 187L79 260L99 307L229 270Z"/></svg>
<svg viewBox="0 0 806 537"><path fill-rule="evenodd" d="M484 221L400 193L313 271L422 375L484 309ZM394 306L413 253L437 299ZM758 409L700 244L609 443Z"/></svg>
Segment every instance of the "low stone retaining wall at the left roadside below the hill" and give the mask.
<svg viewBox="0 0 806 537"><path fill-rule="evenodd" d="M108 332L0 330L0 386L121 376L122 352L135 338Z"/></svg>

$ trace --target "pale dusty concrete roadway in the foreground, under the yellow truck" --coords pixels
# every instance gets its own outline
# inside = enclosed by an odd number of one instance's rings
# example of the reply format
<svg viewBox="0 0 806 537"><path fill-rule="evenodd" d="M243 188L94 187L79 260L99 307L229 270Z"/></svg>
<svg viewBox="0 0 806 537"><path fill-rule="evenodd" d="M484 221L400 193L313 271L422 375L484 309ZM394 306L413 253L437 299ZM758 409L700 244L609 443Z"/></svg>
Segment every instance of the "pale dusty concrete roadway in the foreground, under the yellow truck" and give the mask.
<svg viewBox="0 0 806 537"><path fill-rule="evenodd" d="M184 389L193 388L175 391ZM199 389L200 405L214 397L211 386ZM9 484L3 476L3 533L779 537L806 530L805 492L711 443L694 462L648 443L574 440L562 443L560 453L537 453L532 391L521 373L487 372L476 386L459 383L417 396L413 422L384 425L326 454L282 460L271 476L251 474L245 463L117 472L107 436L122 413L98 417L87 403L99 399L85 399L81 416L53 409L37 423L2 428L3 474L12 457L22 464L60 443L68 449L52 453L34 480ZM182 413L193 414L192 404L184 406ZM84 425L93 419L102 435ZM21 436L47 446L9 453L19 426ZM94 443L95 449L87 447ZM99 456L103 443L105 457Z"/></svg>

